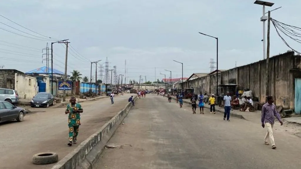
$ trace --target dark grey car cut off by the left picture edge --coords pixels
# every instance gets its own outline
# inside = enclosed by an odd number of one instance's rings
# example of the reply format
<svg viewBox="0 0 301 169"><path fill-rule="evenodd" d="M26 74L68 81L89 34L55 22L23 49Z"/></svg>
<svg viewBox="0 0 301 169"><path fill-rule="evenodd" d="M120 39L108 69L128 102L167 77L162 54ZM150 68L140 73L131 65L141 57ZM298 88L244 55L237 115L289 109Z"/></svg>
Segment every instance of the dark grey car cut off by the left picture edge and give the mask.
<svg viewBox="0 0 301 169"><path fill-rule="evenodd" d="M7 101L0 101L0 123L9 120L22 122L25 115L25 109L14 106Z"/></svg>

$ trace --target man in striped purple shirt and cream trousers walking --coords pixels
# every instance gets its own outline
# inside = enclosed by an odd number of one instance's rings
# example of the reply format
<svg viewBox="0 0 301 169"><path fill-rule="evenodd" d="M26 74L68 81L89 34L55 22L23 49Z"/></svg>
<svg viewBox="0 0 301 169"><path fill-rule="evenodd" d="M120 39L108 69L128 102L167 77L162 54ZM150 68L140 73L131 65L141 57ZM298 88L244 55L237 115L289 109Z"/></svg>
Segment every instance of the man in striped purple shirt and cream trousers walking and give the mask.
<svg viewBox="0 0 301 169"><path fill-rule="evenodd" d="M265 145L269 145L268 138L270 138L270 142L272 144L272 149L276 149L274 136L273 136L273 126L274 126L274 116L278 119L281 126L283 125L283 122L281 121L280 114L276 110L276 106L274 103L274 98L272 96L267 97L268 102L265 103L262 106L262 112L261 112L261 126L268 129L268 131L265 134L264 143Z"/></svg>

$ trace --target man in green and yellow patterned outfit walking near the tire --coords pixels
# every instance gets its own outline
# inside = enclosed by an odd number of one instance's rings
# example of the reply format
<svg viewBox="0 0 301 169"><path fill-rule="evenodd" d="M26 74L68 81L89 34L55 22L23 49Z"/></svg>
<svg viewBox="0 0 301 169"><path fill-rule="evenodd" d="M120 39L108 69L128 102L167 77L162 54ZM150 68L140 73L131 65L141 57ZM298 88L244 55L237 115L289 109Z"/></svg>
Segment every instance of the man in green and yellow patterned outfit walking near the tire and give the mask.
<svg viewBox="0 0 301 169"><path fill-rule="evenodd" d="M68 116L68 127L69 127L69 142L68 146L72 146L72 144L76 144L76 137L79 131L80 125L80 114L83 109L79 103L76 103L76 98L70 98L70 104L67 105L67 109L65 114L69 114Z"/></svg>

